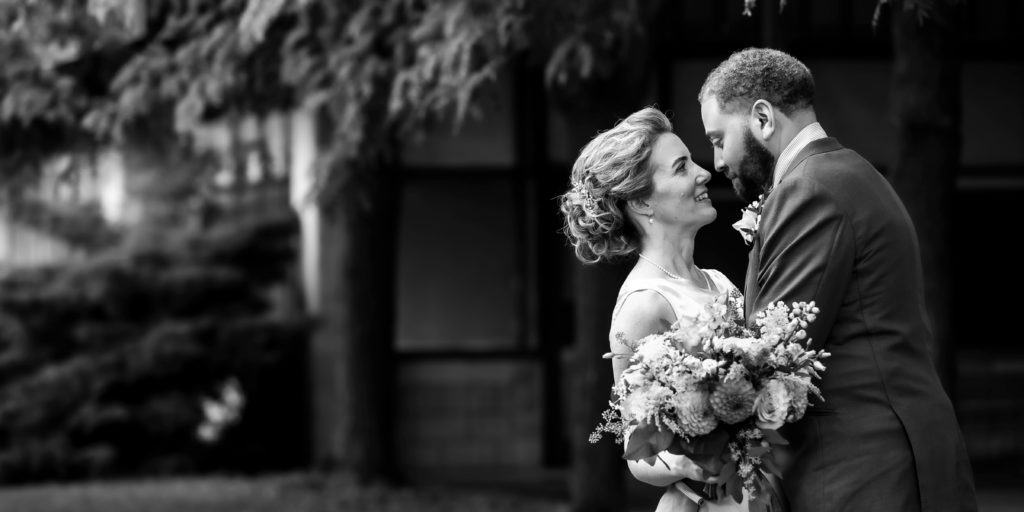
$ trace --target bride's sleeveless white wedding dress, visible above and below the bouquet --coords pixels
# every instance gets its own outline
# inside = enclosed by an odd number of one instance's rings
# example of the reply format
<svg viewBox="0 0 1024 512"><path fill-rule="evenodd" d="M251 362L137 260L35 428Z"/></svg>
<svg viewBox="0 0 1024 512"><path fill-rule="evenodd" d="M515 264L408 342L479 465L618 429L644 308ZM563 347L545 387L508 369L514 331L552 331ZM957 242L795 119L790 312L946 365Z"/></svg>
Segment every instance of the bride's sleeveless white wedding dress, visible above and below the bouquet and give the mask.
<svg viewBox="0 0 1024 512"><path fill-rule="evenodd" d="M697 286L702 286L705 283L694 285L688 280L671 278L627 279L618 290L618 298L615 299L615 307L611 313L612 324L614 324L615 318L618 316L618 311L626 302L626 298L636 292L644 290L657 292L672 306L672 310L676 313L676 318L678 319L683 316L696 316L703 310L706 304L714 301L719 295L728 293L730 290L738 291L736 286L722 272L714 269L701 269L700 271L707 278L707 283L710 285L709 289ZM663 455L677 457L670 454ZM716 502L708 502L700 499L696 493L680 481L666 488L665 495L658 502L655 512L746 512L748 510L746 499L743 500L742 504L737 504L729 497L721 498Z"/></svg>

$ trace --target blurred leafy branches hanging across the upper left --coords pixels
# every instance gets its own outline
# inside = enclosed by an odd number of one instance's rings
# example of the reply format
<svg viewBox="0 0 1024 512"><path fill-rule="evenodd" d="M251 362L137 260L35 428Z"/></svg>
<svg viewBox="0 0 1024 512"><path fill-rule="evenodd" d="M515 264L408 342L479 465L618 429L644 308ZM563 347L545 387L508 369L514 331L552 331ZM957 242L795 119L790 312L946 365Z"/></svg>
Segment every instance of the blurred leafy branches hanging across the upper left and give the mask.
<svg viewBox="0 0 1024 512"><path fill-rule="evenodd" d="M0 138L40 158L72 140L119 140L163 108L184 132L301 98L330 120L326 173L372 161L432 119L477 115L478 93L527 48L549 61L552 85L611 73L625 55L609 52L642 32L641 2L570 4L3 0Z"/></svg>

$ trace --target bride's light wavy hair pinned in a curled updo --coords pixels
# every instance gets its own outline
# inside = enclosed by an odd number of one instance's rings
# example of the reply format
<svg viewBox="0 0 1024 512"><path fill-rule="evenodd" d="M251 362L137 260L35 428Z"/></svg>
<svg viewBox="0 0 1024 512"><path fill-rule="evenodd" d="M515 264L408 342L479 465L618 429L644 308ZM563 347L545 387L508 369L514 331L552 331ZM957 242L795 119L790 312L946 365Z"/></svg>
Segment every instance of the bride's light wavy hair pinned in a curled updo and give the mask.
<svg viewBox="0 0 1024 512"><path fill-rule="evenodd" d="M650 197L650 153L672 123L646 108L599 133L572 164L571 187L561 196L565 237L584 263L627 256L640 247L640 228L626 214L626 203Z"/></svg>

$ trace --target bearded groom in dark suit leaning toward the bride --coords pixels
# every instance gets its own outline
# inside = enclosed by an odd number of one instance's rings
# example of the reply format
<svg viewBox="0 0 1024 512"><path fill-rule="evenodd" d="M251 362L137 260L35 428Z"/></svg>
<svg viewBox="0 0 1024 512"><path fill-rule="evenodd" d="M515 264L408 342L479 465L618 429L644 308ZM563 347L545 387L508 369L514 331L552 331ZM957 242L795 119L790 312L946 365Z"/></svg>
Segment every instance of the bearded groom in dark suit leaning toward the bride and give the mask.
<svg viewBox="0 0 1024 512"><path fill-rule="evenodd" d="M814 80L781 51L733 53L698 96L715 168L760 201L744 295L749 322L814 300L813 348L831 352L825 401L787 425L793 512L975 511L953 408L932 362L913 225L889 182L828 137Z"/></svg>

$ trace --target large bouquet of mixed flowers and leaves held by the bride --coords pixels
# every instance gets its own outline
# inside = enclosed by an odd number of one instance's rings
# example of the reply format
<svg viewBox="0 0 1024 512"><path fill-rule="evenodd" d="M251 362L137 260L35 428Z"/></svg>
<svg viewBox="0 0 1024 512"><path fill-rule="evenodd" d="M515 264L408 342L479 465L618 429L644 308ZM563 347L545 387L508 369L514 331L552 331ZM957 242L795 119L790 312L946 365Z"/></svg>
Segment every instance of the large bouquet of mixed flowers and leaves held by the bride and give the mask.
<svg viewBox="0 0 1024 512"><path fill-rule="evenodd" d="M828 352L809 348L814 302L772 304L753 330L742 310L734 292L666 333L622 340L632 352L605 357L629 357L630 367L590 440L614 435L627 443L625 459L648 464L665 451L683 455L718 475L703 488L712 499L742 503L745 489L750 510L772 510L778 497L767 475L780 476L772 447L786 444L777 429L803 418L810 395L821 397L811 380Z"/></svg>

